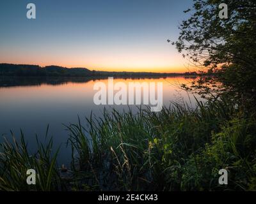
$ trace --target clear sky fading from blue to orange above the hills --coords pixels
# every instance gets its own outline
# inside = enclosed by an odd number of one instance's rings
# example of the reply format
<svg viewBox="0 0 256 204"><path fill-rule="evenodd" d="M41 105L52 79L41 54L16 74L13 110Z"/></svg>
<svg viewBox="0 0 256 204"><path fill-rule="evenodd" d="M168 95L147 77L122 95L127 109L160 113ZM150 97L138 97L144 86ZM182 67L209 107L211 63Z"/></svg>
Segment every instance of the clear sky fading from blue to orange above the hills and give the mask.
<svg viewBox="0 0 256 204"><path fill-rule="evenodd" d="M26 5L36 4L36 19ZM192 0L1 0L0 62L104 71L188 71L177 40Z"/></svg>

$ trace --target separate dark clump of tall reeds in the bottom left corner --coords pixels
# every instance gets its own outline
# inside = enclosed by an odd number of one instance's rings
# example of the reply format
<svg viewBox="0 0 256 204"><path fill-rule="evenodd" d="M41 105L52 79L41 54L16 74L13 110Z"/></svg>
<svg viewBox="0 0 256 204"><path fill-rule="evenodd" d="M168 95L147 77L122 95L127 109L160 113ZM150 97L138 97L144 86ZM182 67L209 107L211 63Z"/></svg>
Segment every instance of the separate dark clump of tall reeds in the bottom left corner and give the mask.
<svg viewBox="0 0 256 204"><path fill-rule="evenodd" d="M48 128L47 128L48 132ZM17 142L12 133L12 141L5 138L0 146L0 190L4 191L58 191L63 189L56 166L58 150L52 154L52 138L45 144L36 136L36 154L29 154L28 145L20 131ZM27 170L36 171L36 185L28 185Z"/></svg>

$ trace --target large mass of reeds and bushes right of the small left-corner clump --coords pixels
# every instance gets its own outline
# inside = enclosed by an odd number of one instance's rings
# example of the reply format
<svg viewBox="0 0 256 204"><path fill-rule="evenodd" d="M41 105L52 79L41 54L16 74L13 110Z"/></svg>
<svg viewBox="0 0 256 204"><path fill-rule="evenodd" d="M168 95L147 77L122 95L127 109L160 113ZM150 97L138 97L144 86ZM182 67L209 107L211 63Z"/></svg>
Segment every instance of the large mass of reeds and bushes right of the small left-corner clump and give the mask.
<svg viewBox="0 0 256 204"><path fill-rule="evenodd" d="M228 101L159 113L105 110L102 119L88 121L88 128L81 122L70 126L73 149L86 152L86 159L81 153L74 159L87 164L95 183L108 190L255 189L255 115ZM228 186L218 184L222 168L229 172Z"/></svg>

